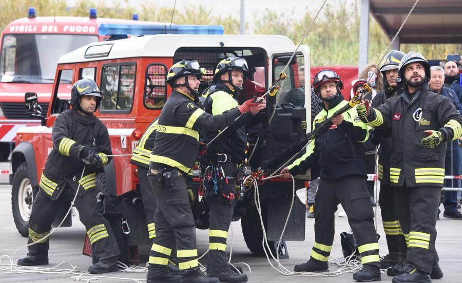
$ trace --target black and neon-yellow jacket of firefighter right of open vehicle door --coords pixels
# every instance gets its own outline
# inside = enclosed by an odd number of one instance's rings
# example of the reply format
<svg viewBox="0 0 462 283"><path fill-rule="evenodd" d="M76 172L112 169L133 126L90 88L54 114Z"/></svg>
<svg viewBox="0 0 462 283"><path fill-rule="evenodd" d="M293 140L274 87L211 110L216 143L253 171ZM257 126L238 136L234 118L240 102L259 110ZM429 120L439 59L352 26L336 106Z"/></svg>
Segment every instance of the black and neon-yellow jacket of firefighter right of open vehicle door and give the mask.
<svg viewBox="0 0 462 283"><path fill-rule="evenodd" d="M313 122L313 130L324 122L326 117L330 118L334 112L347 104L341 95L330 104L329 110L322 104L323 109ZM348 175L367 177L362 143L368 140L369 133L367 125L356 116L356 108L344 112L340 125L333 124L324 134L315 137L306 148L306 153L287 167L291 174L295 176L306 169L319 166L320 176L325 179Z"/></svg>

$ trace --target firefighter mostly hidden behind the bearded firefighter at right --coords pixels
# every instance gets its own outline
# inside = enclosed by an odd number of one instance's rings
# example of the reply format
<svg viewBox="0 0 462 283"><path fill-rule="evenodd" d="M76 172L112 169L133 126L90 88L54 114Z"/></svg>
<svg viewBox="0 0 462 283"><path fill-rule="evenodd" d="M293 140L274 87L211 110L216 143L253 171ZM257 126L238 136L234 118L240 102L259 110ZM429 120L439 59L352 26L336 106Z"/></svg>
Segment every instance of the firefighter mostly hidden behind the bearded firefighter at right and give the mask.
<svg viewBox="0 0 462 283"><path fill-rule="evenodd" d="M385 62L380 66L380 72L383 76L384 90L379 92L372 105L378 107L385 103L385 100L397 96L401 93L402 88L396 82L398 77L398 65L405 53L398 50L390 51ZM380 212L382 215L383 230L387 239L388 254L380 260L380 268L388 269L387 274L395 276L402 274L406 262L406 240L402 235L401 226L399 225L398 216L396 215L395 187L390 185L390 154L391 138L386 137L386 133L376 129L371 131L370 139L378 149L377 175L380 180ZM375 162L374 162L375 163Z"/></svg>

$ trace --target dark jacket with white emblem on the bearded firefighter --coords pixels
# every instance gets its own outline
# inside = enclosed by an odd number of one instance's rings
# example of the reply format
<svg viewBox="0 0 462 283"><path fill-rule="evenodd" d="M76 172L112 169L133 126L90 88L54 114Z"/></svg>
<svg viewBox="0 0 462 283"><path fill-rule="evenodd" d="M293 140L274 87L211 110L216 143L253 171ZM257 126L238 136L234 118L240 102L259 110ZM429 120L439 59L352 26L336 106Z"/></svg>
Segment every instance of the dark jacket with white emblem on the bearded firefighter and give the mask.
<svg viewBox="0 0 462 283"><path fill-rule="evenodd" d="M442 187L447 143L425 148L426 130L438 130L446 140L462 134L462 116L447 97L429 91L428 84L413 95L405 89L370 115L370 125L391 133L390 183L401 187Z"/></svg>

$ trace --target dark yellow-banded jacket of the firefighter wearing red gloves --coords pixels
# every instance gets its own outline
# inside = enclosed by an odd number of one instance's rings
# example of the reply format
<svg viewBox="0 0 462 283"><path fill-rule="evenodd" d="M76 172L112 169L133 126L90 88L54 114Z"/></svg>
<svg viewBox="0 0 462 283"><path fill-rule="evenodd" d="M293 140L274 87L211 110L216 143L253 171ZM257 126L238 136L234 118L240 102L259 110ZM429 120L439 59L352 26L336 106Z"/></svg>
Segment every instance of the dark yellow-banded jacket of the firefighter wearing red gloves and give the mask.
<svg viewBox="0 0 462 283"><path fill-rule="evenodd" d="M241 115L238 108L210 115L188 95L172 92L159 116L150 168L175 167L188 174L199 153L199 130L218 131ZM162 164L162 165L160 165Z"/></svg>

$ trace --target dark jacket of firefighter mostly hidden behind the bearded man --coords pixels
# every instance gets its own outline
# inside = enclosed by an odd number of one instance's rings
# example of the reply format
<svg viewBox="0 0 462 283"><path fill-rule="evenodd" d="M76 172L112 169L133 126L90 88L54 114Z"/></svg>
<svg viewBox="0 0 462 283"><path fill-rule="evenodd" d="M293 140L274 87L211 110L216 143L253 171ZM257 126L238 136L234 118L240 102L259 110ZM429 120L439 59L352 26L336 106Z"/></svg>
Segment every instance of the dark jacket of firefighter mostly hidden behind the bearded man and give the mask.
<svg viewBox="0 0 462 283"><path fill-rule="evenodd" d="M372 99L372 106L378 107L385 103L390 97L396 96L395 89L391 91L382 90ZM374 145L379 145L377 155L377 176L383 184L390 184L390 154L391 154L391 137L387 136L386 131L376 129L372 131L370 139Z"/></svg>

